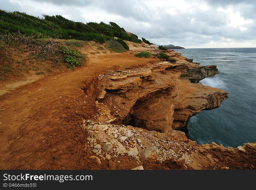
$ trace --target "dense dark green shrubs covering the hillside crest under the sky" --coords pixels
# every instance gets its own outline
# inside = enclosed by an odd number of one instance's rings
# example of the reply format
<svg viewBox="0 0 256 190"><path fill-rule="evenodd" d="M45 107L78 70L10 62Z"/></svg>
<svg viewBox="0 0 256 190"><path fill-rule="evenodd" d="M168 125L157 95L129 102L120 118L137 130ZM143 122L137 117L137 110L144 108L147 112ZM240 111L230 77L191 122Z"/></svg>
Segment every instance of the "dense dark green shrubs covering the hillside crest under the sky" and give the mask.
<svg viewBox="0 0 256 190"><path fill-rule="evenodd" d="M82 23L65 19L61 15L48 16L43 18L33 17L23 12L6 12L0 10L0 28L12 32L20 31L27 36L41 34L42 38L48 36L60 39L77 39L83 41L95 41L104 43L113 37L122 40L141 43L135 34L127 34L124 28L116 23Z"/></svg>

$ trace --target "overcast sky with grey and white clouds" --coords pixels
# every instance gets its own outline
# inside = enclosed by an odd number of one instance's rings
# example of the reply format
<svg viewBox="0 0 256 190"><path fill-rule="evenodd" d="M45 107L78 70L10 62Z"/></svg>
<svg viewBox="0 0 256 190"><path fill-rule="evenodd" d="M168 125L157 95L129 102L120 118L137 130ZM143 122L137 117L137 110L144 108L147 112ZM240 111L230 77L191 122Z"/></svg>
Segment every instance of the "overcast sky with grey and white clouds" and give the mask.
<svg viewBox="0 0 256 190"><path fill-rule="evenodd" d="M0 0L0 9L112 21L162 45L256 47L256 0Z"/></svg>

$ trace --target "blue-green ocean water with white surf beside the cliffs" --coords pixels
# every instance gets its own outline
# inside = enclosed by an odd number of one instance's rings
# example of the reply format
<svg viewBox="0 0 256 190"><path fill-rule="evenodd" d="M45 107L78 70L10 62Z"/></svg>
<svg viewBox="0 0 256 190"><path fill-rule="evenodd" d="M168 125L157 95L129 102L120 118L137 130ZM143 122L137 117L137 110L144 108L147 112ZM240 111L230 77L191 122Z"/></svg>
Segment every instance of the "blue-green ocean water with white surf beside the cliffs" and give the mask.
<svg viewBox="0 0 256 190"><path fill-rule="evenodd" d="M200 48L176 50L204 65L217 65L219 74L200 83L224 89L221 107L190 118L187 136L199 144L237 147L256 142L256 48Z"/></svg>

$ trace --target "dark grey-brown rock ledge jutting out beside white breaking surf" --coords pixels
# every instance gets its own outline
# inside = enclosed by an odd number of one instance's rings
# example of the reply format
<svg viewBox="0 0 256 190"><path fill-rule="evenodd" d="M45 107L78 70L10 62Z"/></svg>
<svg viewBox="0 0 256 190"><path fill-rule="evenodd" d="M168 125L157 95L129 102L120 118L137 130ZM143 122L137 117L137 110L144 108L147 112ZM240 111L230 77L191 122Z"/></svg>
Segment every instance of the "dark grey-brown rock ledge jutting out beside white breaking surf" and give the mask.
<svg viewBox="0 0 256 190"><path fill-rule="evenodd" d="M198 83L206 77L211 77L218 74L219 71L216 65L207 65L195 69L189 69L187 72L183 73L181 79L189 79L191 83Z"/></svg>

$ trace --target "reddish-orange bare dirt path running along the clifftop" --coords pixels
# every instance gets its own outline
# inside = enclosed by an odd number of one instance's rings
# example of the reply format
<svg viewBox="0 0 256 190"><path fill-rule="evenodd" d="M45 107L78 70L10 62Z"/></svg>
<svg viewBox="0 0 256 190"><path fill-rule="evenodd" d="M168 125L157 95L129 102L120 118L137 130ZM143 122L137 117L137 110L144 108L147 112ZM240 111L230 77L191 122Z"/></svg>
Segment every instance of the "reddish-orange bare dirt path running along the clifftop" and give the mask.
<svg viewBox="0 0 256 190"><path fill-rule="evenodd" d="M86 134L77 122L92 117L96 108L92 94L86 97L81 87L93 90L99 74L153 60L130 52L92 56L74 72L46 76L0 96L0 169L107 168L107 162L90 163L93 153L84 150ZM134 163L112 168L130 169Z"/></svg>

